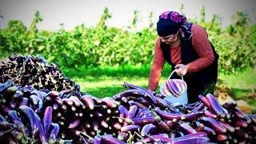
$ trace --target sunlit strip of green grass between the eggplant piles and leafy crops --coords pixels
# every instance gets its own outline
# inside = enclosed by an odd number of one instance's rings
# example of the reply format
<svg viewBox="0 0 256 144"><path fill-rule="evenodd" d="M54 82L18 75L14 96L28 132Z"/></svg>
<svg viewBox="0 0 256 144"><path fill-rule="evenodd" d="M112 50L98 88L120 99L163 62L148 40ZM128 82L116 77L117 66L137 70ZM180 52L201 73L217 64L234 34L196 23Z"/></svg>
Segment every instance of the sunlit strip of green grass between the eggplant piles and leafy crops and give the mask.
<svg viewBox="0 0 256 144"><path fill-rule="evenodd" d="M147 88L150 66L102 66L81 68L80 70L62 70L66 76L81 86L82 91L98 98L112 97L126 90L123 82ZM159 84L170 74L170 66L164 66ZM218 76L218 85L225 85L231 90L234 99L244 99L250 105L256 106L256 100L251 94L256 88L256 74L252 69L246 69L237 74L222 74Z"/></svg>

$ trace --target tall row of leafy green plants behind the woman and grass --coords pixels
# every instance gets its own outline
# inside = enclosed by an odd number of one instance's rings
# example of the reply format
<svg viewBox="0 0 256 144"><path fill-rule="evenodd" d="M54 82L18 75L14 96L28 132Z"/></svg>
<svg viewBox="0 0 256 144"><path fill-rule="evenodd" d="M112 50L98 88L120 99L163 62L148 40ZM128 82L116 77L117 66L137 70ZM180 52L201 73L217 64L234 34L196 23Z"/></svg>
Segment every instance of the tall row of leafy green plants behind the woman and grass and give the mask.
<svg viewBox="0 0 256 144"><path fill-rule="evenodd" d="M181 7L183 10L183 6ZM232 73L245 67L256 66L256 24L249 25L248 15L238 12L234 15L234 24L222 28L222 18L213 15L210 22L205 22L205 9L202 17L190 19L206 28L210 42L220 55L219 70ZM51 32L37 30L42 16L37 11L30 28L21 21L12 20L8 27L0 30L0 53L2 58L7 54L41 54L49 62L70 68L118 65L150 65L157 38L150 13L150 26L142 30L133 30L138 22L138 10L134 10L134 18L130 30L106 26L111 18L110 11L105 8L98 25L86 27L83 24L73 30ZM135 31L135 32L134 32Z"/></svg>

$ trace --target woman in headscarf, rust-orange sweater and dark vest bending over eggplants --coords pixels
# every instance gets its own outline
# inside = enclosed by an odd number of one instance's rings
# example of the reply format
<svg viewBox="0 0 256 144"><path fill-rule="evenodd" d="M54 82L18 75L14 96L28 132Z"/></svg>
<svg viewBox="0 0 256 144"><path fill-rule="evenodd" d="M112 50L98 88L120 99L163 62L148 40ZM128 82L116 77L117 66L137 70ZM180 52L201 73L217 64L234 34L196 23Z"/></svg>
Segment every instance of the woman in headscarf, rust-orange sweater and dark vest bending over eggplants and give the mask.
<svg viewBox="0 0 256 144"><path fill-rule="evenodd" d="M183 76L189 103L197 102L198 94L213 94L218 77L218 54L208 40L206 30L186 22L182 14L166 11L159 16L157 31L148 89L151 92L157 89L166 61L172 70L176 69L171 78Z"/></svg>

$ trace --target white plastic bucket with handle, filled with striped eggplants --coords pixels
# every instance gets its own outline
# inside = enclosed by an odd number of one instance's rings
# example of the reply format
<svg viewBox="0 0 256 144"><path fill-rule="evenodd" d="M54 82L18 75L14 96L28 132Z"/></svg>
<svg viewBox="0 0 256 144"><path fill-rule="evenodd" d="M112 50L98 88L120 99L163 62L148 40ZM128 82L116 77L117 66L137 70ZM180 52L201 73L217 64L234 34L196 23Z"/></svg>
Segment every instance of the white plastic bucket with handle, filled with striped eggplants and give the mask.
<svg viewBox="0 0 256 144"><path fill-rule="evenodd" d="M174 70L173 72L170 73L170 76L168 79L170 79L171 75L174 74L174 72L176 72L176 70ZM181 76L182 77L182 76ZM182 77L182 81L184 81L183 77ZM185 81L184 81L185 82ZM186 83L186 82L185 82ZM164 84L162 84L163 86ZM160 86L160 93L162 94L162 86ZM175 97L174 95L170 94L170 95L166 95L166 98L164 98L167 102L171 102L174 105L179 105L179 104L187 104L188 99L187 99L187 92L186 90L179 96L179 97Z"/></svg>

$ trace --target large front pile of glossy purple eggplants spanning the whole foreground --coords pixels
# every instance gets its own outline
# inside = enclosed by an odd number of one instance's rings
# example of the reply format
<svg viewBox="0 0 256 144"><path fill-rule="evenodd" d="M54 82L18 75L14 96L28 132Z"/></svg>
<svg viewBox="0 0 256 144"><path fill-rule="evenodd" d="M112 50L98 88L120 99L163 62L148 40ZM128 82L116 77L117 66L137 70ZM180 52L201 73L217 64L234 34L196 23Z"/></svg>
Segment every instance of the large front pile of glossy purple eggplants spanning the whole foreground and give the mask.
<svg viewBox="0 0 256 144"><path fill-rule="evenodd" d="M153 95L124 82L122 93L97 98L74 86L41 89L33 85L36 82L20 83L14 72L9 79L8 71L4 74L0 75L4 78L0 83L0 142L256 142L256 115L244 114L236 102L220 105L212 94L199 95L199 102L173 105L162 94Z"/></svg>

